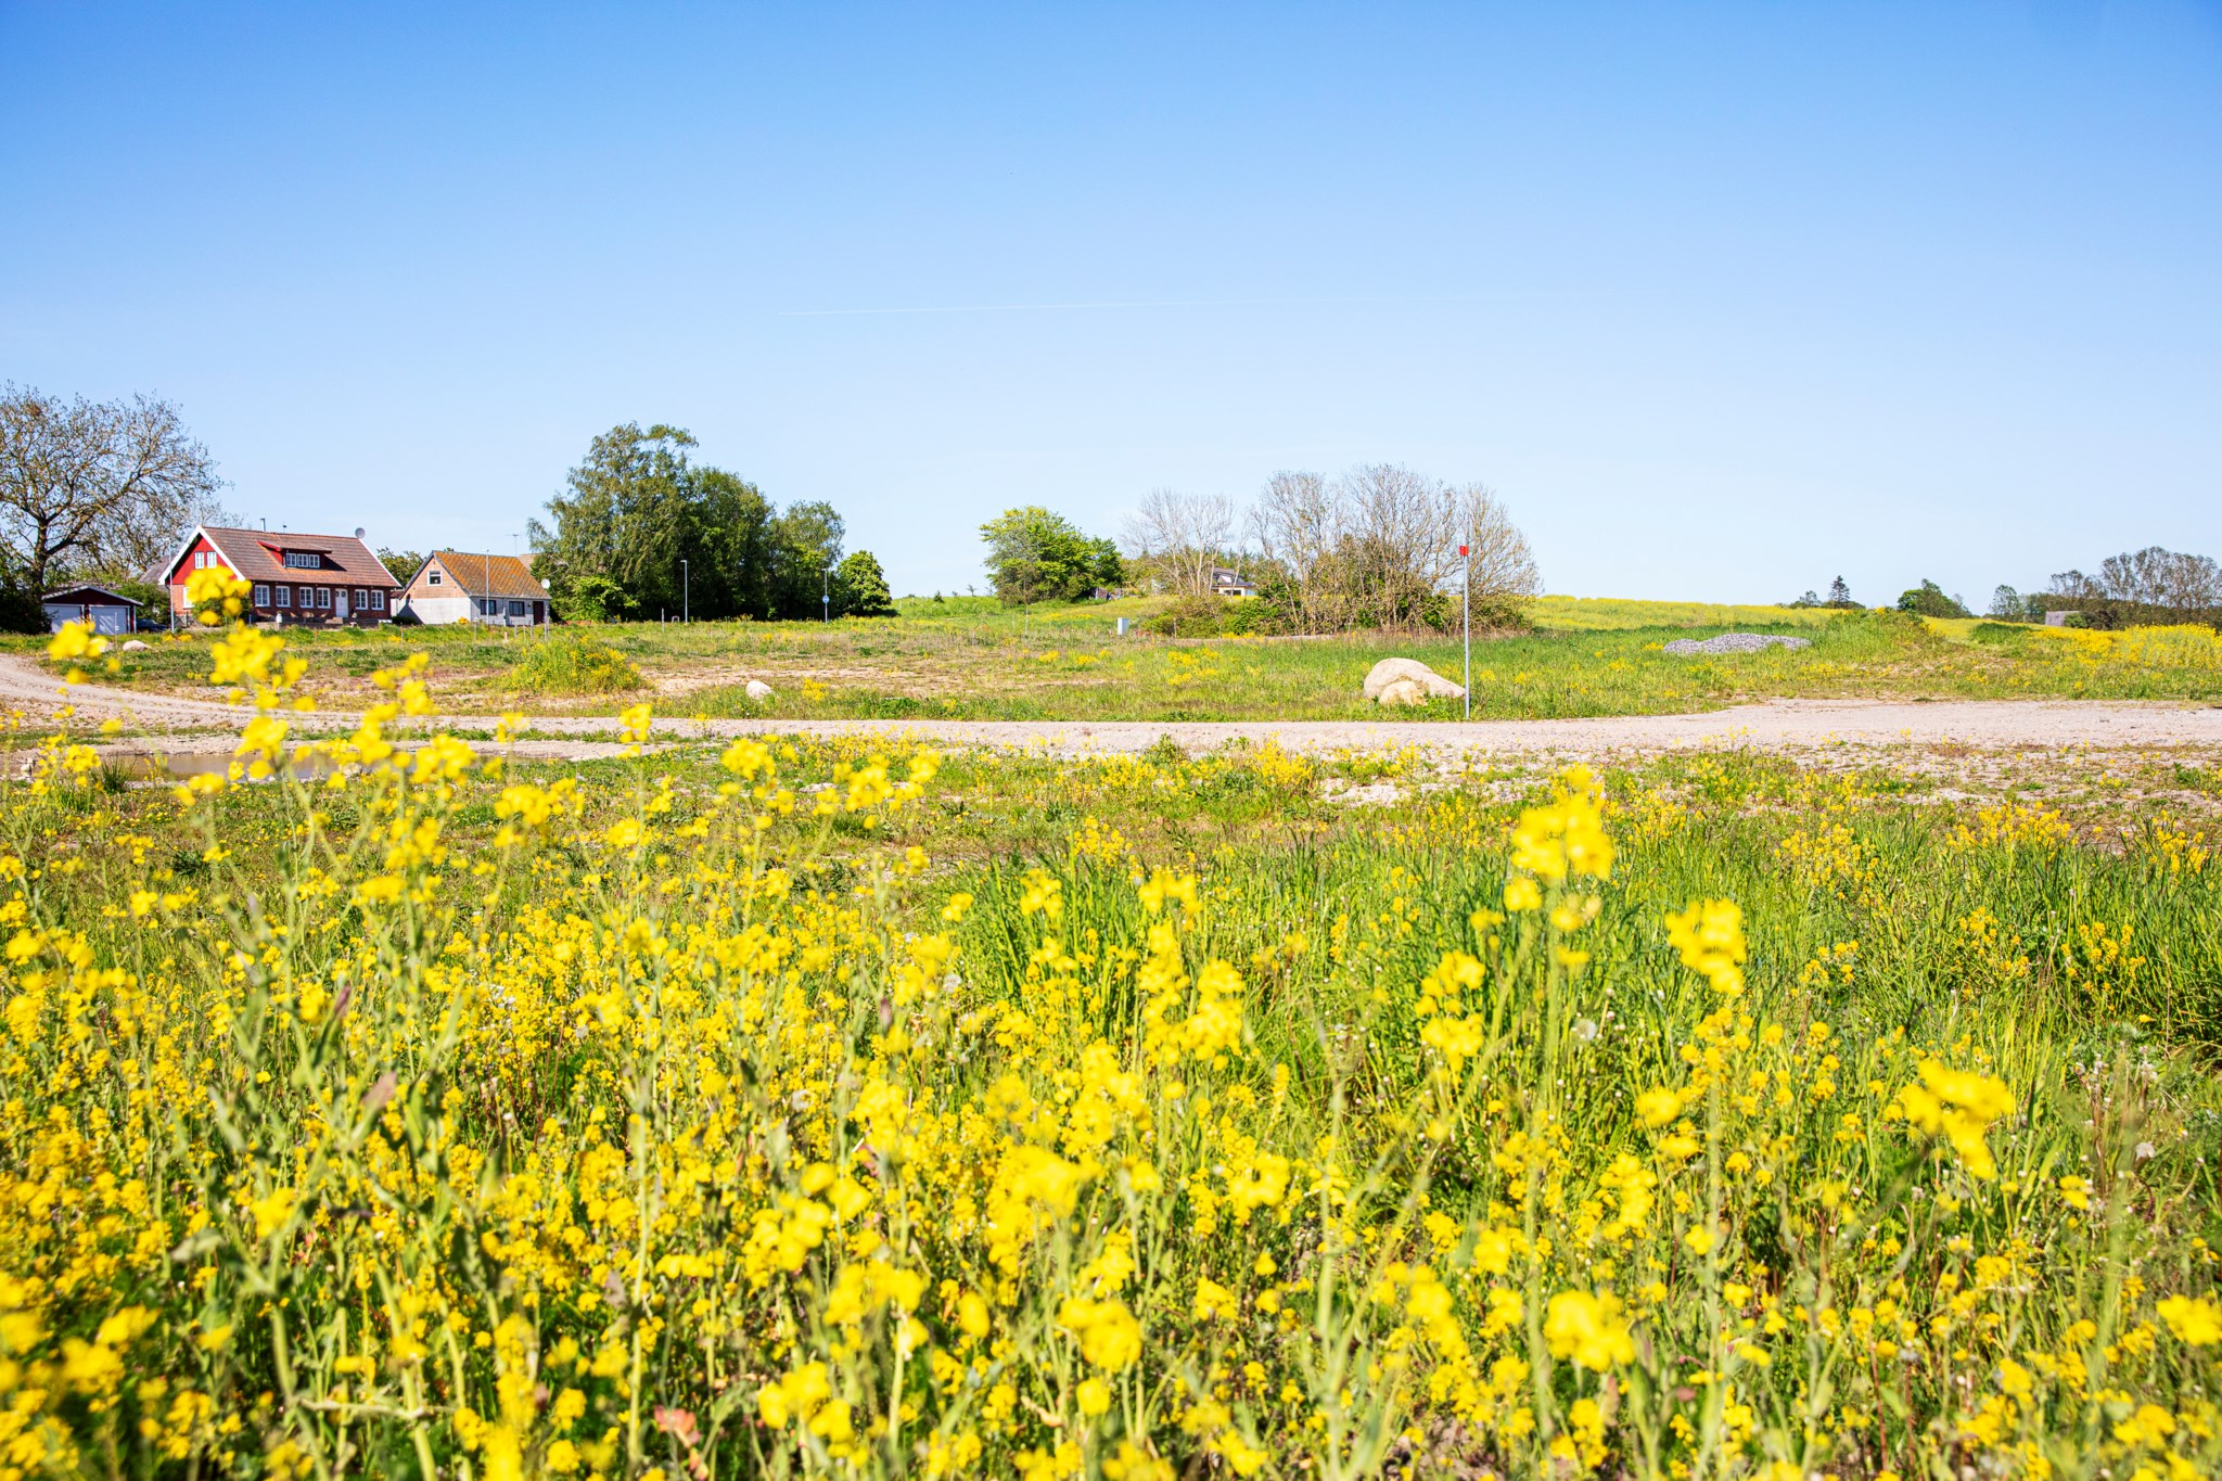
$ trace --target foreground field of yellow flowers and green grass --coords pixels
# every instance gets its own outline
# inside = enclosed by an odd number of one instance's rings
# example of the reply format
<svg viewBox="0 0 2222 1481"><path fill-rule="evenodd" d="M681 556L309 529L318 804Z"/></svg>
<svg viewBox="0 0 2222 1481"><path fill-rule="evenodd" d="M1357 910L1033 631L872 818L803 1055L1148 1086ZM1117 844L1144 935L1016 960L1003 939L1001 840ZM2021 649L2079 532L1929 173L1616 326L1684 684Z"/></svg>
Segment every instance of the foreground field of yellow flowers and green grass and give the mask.
<svg viewBox="0 0 2222 1481"><path fill-rule="evenodd" d="M0 1477L2222 1470L2182 817L213 666L231 777L0 793Z"/></svg>

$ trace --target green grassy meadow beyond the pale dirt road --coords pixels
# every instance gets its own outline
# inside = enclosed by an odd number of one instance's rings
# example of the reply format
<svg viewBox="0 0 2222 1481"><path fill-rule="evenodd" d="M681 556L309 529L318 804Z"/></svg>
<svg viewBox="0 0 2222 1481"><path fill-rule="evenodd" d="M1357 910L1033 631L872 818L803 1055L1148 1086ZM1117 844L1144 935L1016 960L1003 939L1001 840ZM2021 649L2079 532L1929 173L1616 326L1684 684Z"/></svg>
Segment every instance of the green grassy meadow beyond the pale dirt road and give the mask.
<svg viewBox="0 0 2222 1481"><path fill-rule="evenodd" d="M984 597L907 597L904 615L833 624L573 624L553 633L382 628L298 633L327 708L378 699L371 675L422 651L456 713L600 713L655 699L673 715L791 719L1364 719L1367 671L1402 655L1462 673L1442 635L1118 637L1153 602L1004 611ZM1766 697L2218 699L2222 635L2206 628L2071 633L1898 613L1726 608L1542 597L1538 628L1473 646L1473 713L1487 719L1658 715ZM1675 657L1664 644L1722 631L1784 633L1811 648ZM204 691L207 635L124 655L96 682ZM36 651L29 639L18 644ZM749 699L764 679L771 699ZM1433 702L1415 719L1451 719Z"/></svg>

